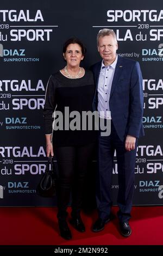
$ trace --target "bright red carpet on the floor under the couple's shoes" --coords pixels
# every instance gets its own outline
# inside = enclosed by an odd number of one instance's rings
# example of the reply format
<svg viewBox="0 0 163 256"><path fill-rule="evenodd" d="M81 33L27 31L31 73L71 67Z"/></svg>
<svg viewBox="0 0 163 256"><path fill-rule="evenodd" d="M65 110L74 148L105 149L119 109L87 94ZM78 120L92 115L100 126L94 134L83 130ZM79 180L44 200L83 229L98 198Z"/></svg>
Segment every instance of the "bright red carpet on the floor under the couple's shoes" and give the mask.
<svg viewBox="0 0 163 256"><path fill-rule="evenodd" d="M56 208L1 208L0 245L163 245L163 206L134 206L128 238L118 232L116 211L113 207L114 220L99 233L91 231L97 212L82 213L86 232L70 225L73 239L66 241L59 235Z"/></svg>

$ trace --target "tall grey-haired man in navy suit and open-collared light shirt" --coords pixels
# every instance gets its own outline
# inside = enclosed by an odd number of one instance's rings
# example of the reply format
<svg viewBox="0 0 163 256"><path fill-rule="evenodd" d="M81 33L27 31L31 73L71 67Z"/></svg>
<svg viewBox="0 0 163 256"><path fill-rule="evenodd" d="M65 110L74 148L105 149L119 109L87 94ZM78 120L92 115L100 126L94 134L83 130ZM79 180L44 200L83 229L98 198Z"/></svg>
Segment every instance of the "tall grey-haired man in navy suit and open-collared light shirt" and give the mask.
<svg viewBox="0 0 163 256"><path fill-rule="evenodd" d="M111 133L109 136L99 133L96 194L99 217L92 231L103 230L110 221L111 176L116 150L117 204L120 209L117 215L121 234L129 236L137 138L144 135L142 75L138 62L117 55L116 34L111 29L99 31L97 47L103 60L92 66L96 84L93 108L98 110L99 117L105 123L111 119ZM109 111L111 115L108 115Z"/></svg>

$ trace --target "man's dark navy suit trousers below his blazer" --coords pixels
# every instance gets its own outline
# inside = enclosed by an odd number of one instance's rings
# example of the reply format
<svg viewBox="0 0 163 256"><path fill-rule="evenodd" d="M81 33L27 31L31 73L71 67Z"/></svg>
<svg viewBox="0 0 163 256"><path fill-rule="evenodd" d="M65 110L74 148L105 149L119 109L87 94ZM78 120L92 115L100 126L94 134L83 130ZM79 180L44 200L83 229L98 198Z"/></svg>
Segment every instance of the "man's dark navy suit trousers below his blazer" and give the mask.
<svg viewBox="0 0 163 256"><path fill-rule="evenodd" d="M105 120L106 123L106 120ZM97 208L99 217L107 220L110 215L111 200L111 177L114 166L114 151L116 150L118 166L118 197L119 206L118 218L120 222L128 222L131 215L131 206L134 194L134 173L135 173L135 149L127 151L125 149L125 139L122 142L117 135L111 120L111 133L109 136L101 136L99 132L99 156L97 173Z"/></svg>

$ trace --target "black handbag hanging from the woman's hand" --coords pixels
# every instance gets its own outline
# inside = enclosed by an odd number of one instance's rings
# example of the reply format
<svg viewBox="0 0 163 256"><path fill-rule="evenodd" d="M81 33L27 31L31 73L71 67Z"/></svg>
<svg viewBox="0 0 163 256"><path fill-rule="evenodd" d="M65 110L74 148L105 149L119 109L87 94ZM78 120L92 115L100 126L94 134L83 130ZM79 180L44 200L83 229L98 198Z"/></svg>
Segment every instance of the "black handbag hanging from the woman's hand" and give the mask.
<svg viewBox="0 0 163 256"><path fill-rule="evenodd" d="M43 173L41 180L36 187L36 193L41 197L54 197L56 194L56 178L57 174L55 171L53 159L50 156L45 173Z"/></svg>

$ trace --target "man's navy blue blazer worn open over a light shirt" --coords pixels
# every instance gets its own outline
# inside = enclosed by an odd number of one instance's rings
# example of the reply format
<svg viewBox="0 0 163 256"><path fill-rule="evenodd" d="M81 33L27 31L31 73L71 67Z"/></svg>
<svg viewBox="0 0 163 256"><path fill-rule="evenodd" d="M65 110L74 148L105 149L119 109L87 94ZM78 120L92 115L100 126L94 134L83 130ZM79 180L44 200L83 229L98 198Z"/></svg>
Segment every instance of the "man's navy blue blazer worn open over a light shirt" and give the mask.
<svg viewBox="0 0 163 256"><path fill-rule="evenodd" d="M95 79L93 111L97 110L97 87L101 64L102 62L98 62L91 67ZM144 136L142 74L139 62L118 56L111 85L109 108L112 122L121 141L124 141L127 135L136 138Z"/></svg>

